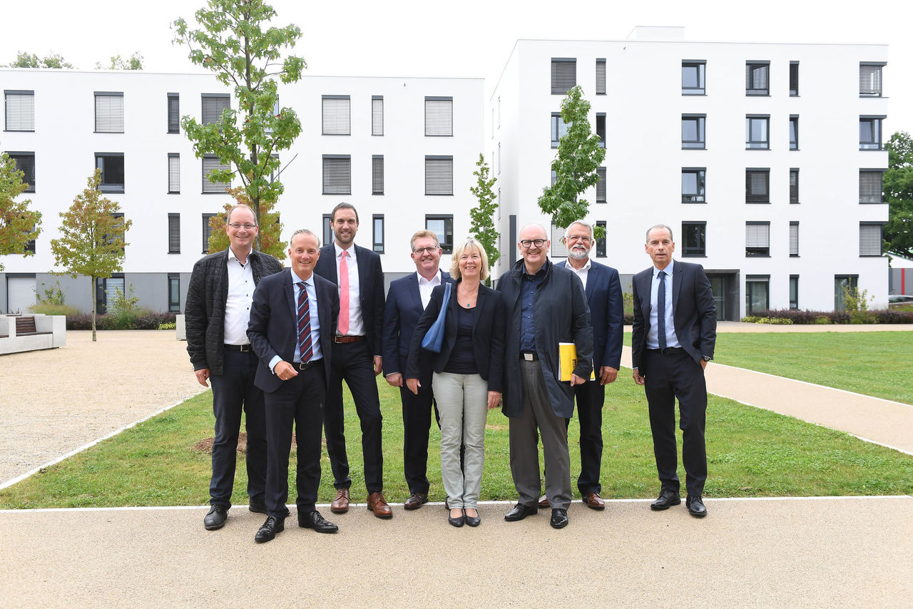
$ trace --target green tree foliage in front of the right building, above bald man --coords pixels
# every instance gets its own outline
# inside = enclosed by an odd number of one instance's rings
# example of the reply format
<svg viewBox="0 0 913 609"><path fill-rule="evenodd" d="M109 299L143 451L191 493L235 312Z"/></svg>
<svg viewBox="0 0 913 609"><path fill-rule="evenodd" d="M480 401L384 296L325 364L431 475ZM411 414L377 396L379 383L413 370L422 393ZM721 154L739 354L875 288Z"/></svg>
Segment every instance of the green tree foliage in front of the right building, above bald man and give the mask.
<svg viewBox="0 0 913 609"><path fill-rule="evenodd" d="M605 149L599 146L599 136L590 131L587 113L590 102L583 99L580 86L568 91L561 102L561 121L567 132L558 142L558 154L551 162L555 183L542 189L539 207L551 215L555 226L566 228L586 217L590 204L580 194L599 182L596 169L603 163Z"/></svg>

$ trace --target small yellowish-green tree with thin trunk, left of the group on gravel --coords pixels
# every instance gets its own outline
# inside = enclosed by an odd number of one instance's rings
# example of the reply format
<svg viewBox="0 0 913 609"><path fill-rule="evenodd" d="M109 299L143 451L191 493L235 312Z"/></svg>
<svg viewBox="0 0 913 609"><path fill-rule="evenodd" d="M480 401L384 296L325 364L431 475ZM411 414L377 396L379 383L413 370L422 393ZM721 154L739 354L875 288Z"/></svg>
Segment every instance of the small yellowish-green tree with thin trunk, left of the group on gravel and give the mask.
<svg viewBox="0 0 913 609"><path fill-rule="evenodd" d="M120 271L123 264L124 246L129 245L124 237L133 224L123 216L116 215L121 206L101 196L99 184L101 170L96 169L89 177L82 194L73 199L67 212L60 212L63 223L60 238L51 239L54 264L66 268L73 278L88 277L92 295L92 341L95 335L95 285L100 278L109 278Z"/></svg>

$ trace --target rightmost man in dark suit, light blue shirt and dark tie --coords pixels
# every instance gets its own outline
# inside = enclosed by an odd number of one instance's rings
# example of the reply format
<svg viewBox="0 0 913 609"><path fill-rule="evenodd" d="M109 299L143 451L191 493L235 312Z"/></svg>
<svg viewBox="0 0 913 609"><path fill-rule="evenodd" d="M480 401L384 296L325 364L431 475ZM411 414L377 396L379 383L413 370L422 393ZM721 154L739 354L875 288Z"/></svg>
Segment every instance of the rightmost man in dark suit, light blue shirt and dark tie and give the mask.
<svg viewBox="0 0 913 609"><path fill-rule="evenodd" d="M656 225L646 231L646 253L653 267L634 276L634 329L631 361L635 383L644 385L653 432L656 471L662 489L651 509L681 503L677 475L676 398L682 429L687 509L707 516L702 495L707 480L704 425L707 383L704 369L713 359L717 314L704 268L672 259L672 229Z"/></svg>

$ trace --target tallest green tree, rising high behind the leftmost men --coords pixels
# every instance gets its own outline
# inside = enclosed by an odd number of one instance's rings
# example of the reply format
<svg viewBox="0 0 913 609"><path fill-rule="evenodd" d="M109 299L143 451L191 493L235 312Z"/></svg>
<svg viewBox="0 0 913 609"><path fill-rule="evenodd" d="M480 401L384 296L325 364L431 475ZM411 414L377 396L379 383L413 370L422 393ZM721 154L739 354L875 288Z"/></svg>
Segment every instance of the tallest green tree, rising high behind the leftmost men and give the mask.
<svg viewBox="0 0 913 609"><path fill-rule="evenodd" d="M191 116L184 116L181 124L198 158L215 154L229 165L212 172L211 181L230 182L234 174L241 180L260 225L256 247L262 251L263 239L270 231L276 231L278 238L280 230L261 218L283 192L282 184L271 177L279 167L274 153L289 149L301 132L294 110L278 109L272 77L286 84L301 78L304 59L282 58L282 49L293 47L301 30L295 25L264 29L276 11L263 0L207 0L206 4L195 14L200 29L190 29L184 19L174 21L174 42L190 48L188 57L194 64L213 70L220 82L234 85L240 117L229 108L222 111L217 124L202 125Z"/></svg>

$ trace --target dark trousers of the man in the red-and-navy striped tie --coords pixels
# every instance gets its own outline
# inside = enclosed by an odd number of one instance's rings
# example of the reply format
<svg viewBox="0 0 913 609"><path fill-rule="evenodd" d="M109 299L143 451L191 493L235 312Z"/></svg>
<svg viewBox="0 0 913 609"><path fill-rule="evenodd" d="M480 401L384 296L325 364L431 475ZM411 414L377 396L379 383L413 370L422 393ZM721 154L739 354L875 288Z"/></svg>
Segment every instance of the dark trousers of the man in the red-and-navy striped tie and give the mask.
<svg viewBox="0 0 913 609"><path fill-rule="evenodd" d="M299 371L279 388L266 394L268 465L267 509L270 516L289 515L289 451L292 425L298 444L298 513L314 511L320 487L320 431L326 398L326 374L322 360L309 370Z"/></svg>

